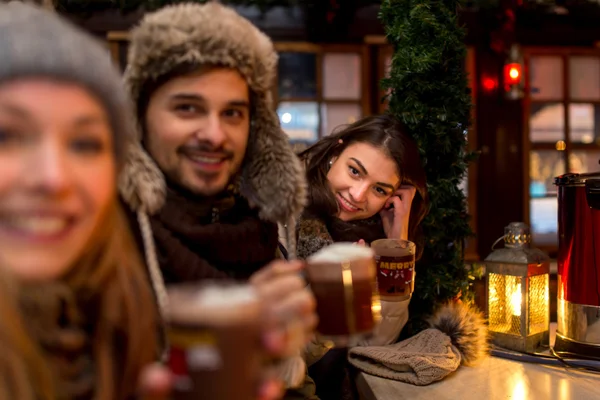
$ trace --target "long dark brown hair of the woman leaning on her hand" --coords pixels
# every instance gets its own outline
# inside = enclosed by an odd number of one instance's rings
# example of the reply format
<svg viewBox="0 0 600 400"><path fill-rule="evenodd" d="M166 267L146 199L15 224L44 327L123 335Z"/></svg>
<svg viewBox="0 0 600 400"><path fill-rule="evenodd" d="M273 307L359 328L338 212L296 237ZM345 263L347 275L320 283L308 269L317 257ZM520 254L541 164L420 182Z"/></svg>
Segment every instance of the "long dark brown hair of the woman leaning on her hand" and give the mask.
<svg viewBox="0 0 600 400"><path fill-rule="evenodd" d="M417 242L420 255L423 248L419 245L422 242L420 224L428 211L425 169L408 128L391 115L362 118L322 138L299 154L305 163L308 180L309 205L306 212L323 219L337 215L338 204L327 180L329 162L355 143L367 143L381 149L396 163L402 184L417 189L411 205L408 239Z"/></svg>

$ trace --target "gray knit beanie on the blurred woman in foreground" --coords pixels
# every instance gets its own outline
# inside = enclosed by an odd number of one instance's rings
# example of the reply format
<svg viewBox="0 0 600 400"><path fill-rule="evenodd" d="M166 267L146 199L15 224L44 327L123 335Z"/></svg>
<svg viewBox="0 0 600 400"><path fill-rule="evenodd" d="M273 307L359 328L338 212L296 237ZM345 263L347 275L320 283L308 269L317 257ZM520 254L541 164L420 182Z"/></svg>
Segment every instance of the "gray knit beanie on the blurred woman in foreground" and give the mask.
<svg viewBox="0 0 600 400"><path fill-rule="evenodd" d="M48 77L86 88L104 106L119 166L133 137L131 102L120 73L99 41L53 12L21 2L0 3L0 84Z"/></svg>

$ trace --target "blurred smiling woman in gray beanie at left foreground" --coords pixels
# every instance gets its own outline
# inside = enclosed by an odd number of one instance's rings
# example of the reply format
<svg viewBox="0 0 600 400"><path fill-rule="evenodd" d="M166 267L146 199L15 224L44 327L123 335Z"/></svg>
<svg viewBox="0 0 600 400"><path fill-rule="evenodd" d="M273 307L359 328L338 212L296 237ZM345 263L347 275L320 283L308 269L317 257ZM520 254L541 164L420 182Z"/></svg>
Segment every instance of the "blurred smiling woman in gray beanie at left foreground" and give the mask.
<svg viewBox="0 0 600 400"><path fill-rule="evenodd" d="M21 3L0 5L0 54L0 398L131 398L157 325L116 190L119 73Z"/></svg>

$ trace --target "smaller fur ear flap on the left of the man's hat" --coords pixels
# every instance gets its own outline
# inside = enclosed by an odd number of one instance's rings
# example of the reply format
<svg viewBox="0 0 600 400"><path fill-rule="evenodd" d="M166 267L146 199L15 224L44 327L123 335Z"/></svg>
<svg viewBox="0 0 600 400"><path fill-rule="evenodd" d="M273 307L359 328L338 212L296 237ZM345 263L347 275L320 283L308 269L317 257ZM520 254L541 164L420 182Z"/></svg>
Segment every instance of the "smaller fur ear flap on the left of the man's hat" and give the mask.
<svg viewBox="0 0 600 400"><path fill-rule="evenodd" d="M139 143L132 143L127 149L119 190L125 202L135 211L154 214L165 202L165 178Z"/></svg>

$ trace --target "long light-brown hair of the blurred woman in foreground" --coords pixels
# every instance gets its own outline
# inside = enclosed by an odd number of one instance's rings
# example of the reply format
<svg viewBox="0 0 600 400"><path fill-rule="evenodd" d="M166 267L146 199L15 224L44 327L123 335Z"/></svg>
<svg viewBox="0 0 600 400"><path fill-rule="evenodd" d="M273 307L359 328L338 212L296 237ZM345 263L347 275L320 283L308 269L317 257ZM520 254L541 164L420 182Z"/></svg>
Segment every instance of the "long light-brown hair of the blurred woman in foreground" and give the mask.
<svg viewBox="0 0 600 400"><path fill-rule="evenodd" d="M142 368L157 357L156 306L133 235L116 199L106 214L85 254L63 278L76 297L98 304L90 321L95 400L130 398ZM0 398L54 400L53 366L27 333L16 281L4 278L0 276Z"/></svg>

